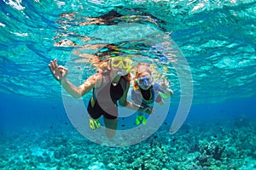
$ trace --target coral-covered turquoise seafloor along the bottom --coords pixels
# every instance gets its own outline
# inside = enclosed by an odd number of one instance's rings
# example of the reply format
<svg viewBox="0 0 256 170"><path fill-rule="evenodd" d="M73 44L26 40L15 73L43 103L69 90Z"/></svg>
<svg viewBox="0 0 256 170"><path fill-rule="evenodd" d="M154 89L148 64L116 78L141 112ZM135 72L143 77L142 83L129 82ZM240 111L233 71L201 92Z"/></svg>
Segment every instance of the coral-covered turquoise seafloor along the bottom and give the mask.
<svg viewBox="0 0 256 170"><path fill-rule="evenodd" d="M256 123L189 122L174 135L163 125L129 147L94 144L75 130L1 133L1 169L256 169Z"/></svg>

